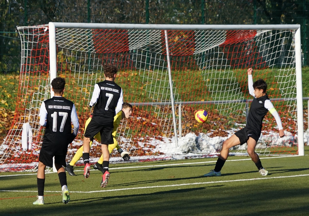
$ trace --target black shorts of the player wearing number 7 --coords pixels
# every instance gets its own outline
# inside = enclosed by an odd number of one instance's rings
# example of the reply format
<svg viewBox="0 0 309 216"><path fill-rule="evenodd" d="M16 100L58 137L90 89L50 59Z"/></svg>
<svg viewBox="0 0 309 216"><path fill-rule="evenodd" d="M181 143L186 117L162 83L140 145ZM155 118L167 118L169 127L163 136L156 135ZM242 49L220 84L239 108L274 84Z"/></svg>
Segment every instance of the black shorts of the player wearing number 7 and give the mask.
<svg viewBox="0 0 309 216"><path fill-rule="evenodd" d="M114 129L114 119L107 119L106 122L100 121L100 123L93 120L95 117L91 118L91 121L87 125L84 136L90 138L93 141L93 138L97 133L101 134L101 144L109 145L114 143L112 132ZM111 121L112 120L112 121Z"/></svg>

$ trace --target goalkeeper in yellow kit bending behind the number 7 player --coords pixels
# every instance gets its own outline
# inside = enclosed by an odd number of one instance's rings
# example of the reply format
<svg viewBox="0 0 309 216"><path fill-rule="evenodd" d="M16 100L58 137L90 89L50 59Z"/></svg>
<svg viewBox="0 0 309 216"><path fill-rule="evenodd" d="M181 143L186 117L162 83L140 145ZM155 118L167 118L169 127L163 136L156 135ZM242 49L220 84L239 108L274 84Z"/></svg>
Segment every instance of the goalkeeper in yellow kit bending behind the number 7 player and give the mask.
<svg viewBox="0 0 309 216"><path fill-rule="evenodd" d="M113 129L113 132L112 132L114 143L108 145L108 151L109 151L110 154L112 153L113 149L116 148L117 151L120 153L121 157L123 158L123 160L125 160L125 161L128 161L130 159L129 152L123 151L121 149L121 147L118 145L117 140L115 139L115 136L116 136L117 128L118 128L118 126L120 124L120 120L122 118L129 118L129 116L132 114L132 109L133 109L133 106L131 104L126 103L126 102L122 104L121 111L118 112L115 115L115 117L114 117L114 129ZM90 122L91 118L92 118L92 116L90 116L87 119L86 124L85 124L85 130L86 130L86 127L87 127L88 123ZM98 142L101 142L101 135L100 135L100 133L97 133L94 138ZM90 142L90 147L91 147L91 145L92 145L92 142ZM73 159L71 160L70 164L66 165L65 169L69 173L70 176L76 176L75 173L74 173L73 166L82 156L83 156L83 146L80 147L77 150L77 152L75 153L75 155L74 155ZM103 156L101 155L100 159L93 165L93 168L97 169L97 170L100 170L103 173L102 164L103 164Z"/></svg>

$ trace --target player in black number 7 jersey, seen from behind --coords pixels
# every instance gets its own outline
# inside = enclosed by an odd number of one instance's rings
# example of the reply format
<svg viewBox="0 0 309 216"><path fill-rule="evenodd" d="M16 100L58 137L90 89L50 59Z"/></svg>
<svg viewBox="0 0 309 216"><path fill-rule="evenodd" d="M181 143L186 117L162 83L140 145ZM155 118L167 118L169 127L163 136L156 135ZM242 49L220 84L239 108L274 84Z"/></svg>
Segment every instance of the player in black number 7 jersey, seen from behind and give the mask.
<svg viewBox="0 0 309 216"><path fill-rule="evenodd" d="M108 145L114 143L112 136L114 116L121 111L123 104L122 88L114 82L118 69L112 64L104 65L103 69L105 80L95 84L89 103L90 107L94 106L93 116L85 130L83 140L84 177L88 178L90 141L93 141L94 136L100 132L104 171L101 187L107 185L110 177Z"/></svg>

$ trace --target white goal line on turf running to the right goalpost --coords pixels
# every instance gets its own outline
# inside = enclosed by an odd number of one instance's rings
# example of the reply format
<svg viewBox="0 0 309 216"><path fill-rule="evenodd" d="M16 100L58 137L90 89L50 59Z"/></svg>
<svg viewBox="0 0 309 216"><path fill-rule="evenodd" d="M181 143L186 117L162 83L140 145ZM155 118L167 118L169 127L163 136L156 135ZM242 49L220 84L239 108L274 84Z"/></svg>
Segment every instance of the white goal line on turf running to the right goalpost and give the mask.
<svg viewBox="0 0 309 216"><path fill-rule="evenodd" d="M306 155L307 156L307 155ZM284 157L298 157L298 155L289 155L289 156L271 156L271 157L260 157L260 159L264 160L264 159L273 159L273 158L284 158ZM236 160L226 160L226 162L230 162L230 161L241 161L241 160L251 160L251 158L247 158L247 159L236 159ZM203 161L203 162L193 162L193 163L178 163L178 164L160 164L160 165L147 165L147 166L130 166L130 167L114 167L114 168L109 168L109 170L113 170L113 169L132 169L132 168L149 168L149 167L168 167L168 166L177 166L177 165L191 165L191 164L208 164L208 163L215 163L217 161L216 160L212 160L212 161ZM95 170L95 169L91 169L91 170ZM74 172L83 172L84 170L74 170ZM46 174L48 173L53 173L53 172L46 172ZM14 175L0 175L1 177L6 177L6 176L27 176L27 175L36 175L36 173L30 173L30 174L14 174Z"/></svg>

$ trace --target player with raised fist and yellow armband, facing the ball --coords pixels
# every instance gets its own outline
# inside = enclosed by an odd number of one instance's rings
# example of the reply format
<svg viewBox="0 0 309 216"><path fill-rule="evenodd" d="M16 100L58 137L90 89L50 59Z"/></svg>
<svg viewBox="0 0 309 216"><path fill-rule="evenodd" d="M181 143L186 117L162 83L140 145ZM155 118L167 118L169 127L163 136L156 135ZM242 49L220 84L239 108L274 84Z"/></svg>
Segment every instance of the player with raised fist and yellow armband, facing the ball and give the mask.
<svg viewBox="0 0 309 216"><path fill-rule="evenodd" d="M268 112L273 115L277 122L279 136L283 137L284 132L280 116L273 107L273 104L266 93L267 83L262 79L259 79L253 83L252 72L252 68L247 70L249 93L254 97L254 99L250 106L246 126L223 142L220 156L214 170L211 170L204 176L221 176L221 169L229 155L229 149L236 145L243 145L244 143L247 143L248 154L251 157L251 160L255 163L260 174L262 176L266 176L268 174L268 171L263 168L258 154L255 152L256 143L260 138L262 131L263 119Z"/></svg>

